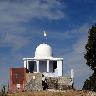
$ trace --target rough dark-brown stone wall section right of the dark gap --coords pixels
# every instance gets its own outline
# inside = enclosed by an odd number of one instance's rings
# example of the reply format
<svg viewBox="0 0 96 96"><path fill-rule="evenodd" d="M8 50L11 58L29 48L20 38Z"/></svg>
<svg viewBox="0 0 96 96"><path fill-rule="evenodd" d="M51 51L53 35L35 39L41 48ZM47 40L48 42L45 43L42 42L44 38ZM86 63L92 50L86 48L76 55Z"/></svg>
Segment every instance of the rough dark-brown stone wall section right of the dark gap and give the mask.
<svg viewBox="0 0 96 96"><path fill-rule="evenodd" d="M72 79L65 77L47 77L47 84L49 89L65 90L72 88Z"/></svg>

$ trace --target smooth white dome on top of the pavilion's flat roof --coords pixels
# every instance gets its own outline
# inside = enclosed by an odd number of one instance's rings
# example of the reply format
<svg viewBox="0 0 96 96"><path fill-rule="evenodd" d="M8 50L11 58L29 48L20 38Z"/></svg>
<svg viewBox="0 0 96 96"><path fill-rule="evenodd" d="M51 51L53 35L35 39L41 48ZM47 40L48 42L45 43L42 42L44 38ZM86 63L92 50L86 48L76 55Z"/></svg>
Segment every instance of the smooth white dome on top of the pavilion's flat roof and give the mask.
<svg viewBox="0 0 96 96"><path fill-rule="evenodd" d="M35 51L36 58L52 57L52 48L48 44L40 44Z"/></svg>

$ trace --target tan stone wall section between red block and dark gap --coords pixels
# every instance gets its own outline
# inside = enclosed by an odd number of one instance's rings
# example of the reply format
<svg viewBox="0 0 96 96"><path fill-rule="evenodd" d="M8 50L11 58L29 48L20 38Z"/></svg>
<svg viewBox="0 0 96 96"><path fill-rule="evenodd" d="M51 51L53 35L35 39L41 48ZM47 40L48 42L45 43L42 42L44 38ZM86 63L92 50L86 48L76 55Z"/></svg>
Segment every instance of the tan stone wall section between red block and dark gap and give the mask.
<svg viewBox="0 0 96 96"><path fill-rule="evenodd" d="M27 73L25 91L39 91L42 89L42 74Z"/></svg>

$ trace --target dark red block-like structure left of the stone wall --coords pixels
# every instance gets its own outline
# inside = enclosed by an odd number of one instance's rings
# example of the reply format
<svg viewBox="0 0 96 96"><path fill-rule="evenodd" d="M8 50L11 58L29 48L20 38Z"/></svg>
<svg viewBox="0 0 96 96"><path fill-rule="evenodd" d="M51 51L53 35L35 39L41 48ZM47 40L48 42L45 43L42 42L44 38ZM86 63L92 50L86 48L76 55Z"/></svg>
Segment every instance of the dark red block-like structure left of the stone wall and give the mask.
<svg viewBox="0 0 96 96"><path fill-rule="evenodd" d="M9 92L23 91L26 83L25 68L10 68Z"/></svg>

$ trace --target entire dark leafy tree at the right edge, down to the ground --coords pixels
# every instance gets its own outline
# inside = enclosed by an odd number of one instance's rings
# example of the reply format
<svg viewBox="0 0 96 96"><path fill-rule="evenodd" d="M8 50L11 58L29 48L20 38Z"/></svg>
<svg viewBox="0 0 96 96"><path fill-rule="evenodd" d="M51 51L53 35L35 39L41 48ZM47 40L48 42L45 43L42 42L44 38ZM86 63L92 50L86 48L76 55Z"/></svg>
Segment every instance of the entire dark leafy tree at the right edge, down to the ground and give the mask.
<svg viewBox="0 0 96 96"><path fill-rule="evenodd" d="M84 58L86 59L86 64L93 70L93 74L84 82L83 89L96 91L96 25L89 29L85 49Z"/></svg>

